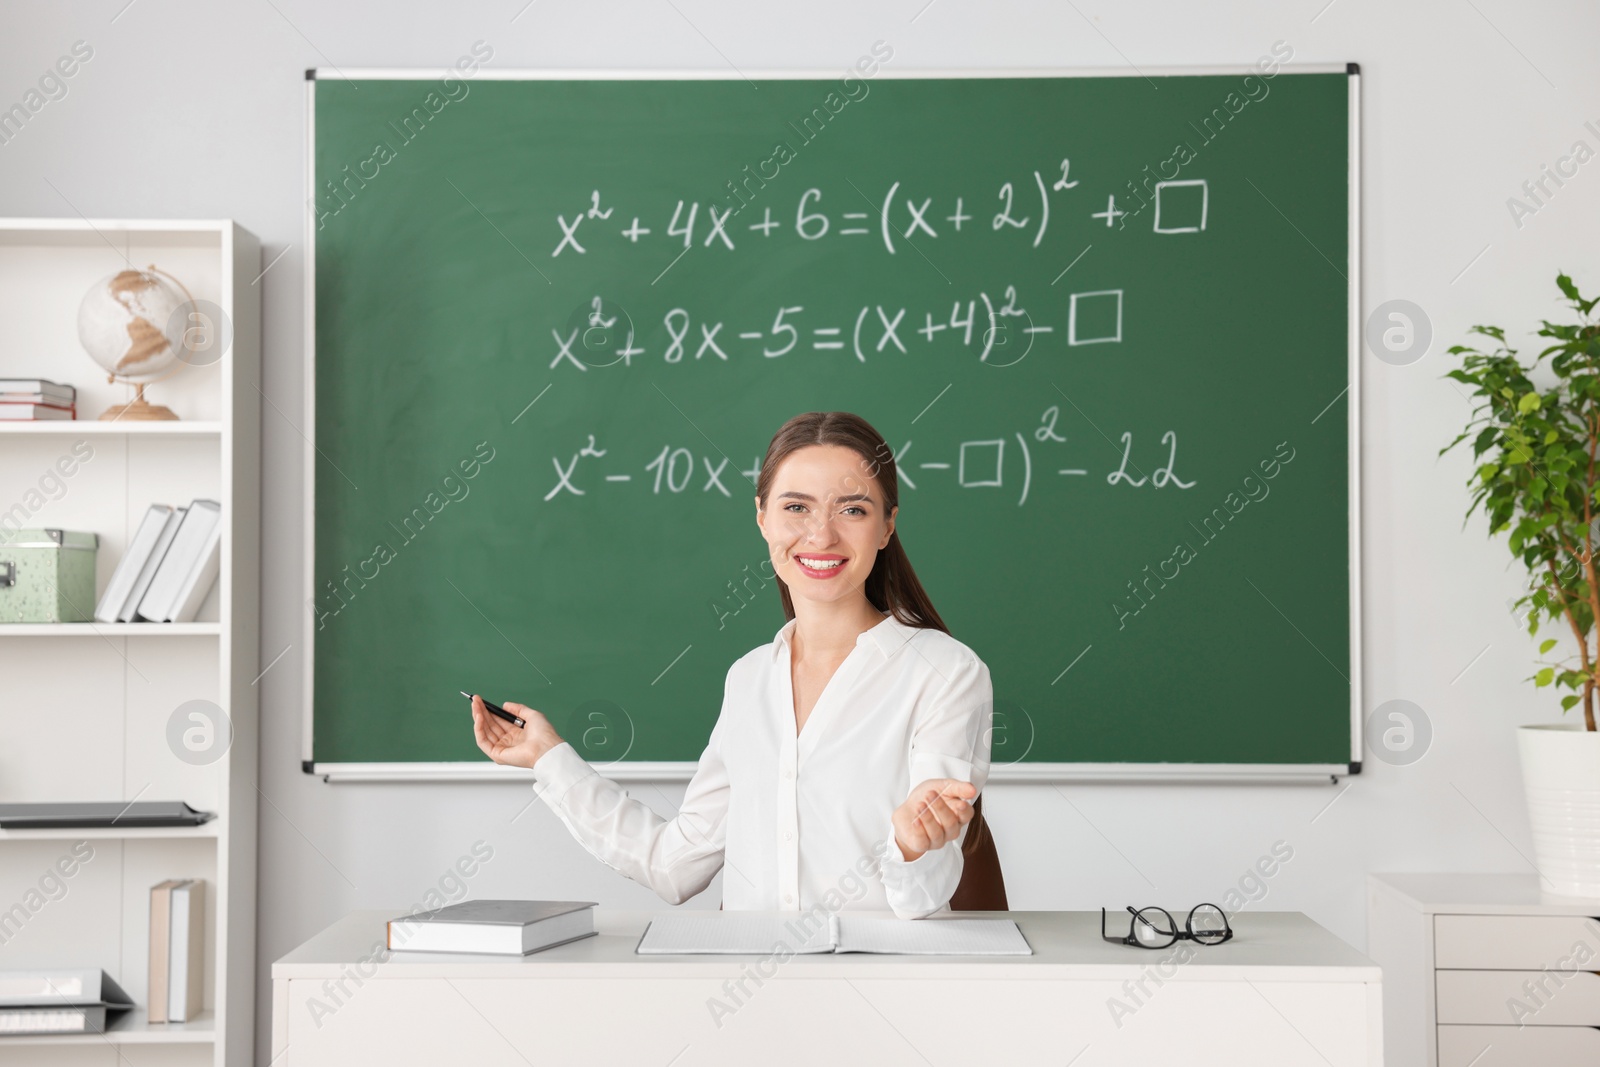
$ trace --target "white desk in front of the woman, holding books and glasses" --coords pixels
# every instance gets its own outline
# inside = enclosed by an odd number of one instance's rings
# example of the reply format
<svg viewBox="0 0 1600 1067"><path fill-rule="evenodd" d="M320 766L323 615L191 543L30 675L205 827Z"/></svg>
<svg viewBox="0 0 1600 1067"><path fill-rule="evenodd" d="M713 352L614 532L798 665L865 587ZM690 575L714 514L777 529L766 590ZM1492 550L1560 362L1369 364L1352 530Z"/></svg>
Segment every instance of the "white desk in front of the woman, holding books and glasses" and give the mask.
<svg viewBox="0 0 1600 1067"><path fill-rule="evenodd" d="M1187 961L1102 942L1099 912L963 912L1010 915L1032 957L640 957L651 913L600 909L598 936L530 957L379 961L402 912L272 965L274 1067L1382 1064L1378 966L1298 912L1242 913Z"/></svg>

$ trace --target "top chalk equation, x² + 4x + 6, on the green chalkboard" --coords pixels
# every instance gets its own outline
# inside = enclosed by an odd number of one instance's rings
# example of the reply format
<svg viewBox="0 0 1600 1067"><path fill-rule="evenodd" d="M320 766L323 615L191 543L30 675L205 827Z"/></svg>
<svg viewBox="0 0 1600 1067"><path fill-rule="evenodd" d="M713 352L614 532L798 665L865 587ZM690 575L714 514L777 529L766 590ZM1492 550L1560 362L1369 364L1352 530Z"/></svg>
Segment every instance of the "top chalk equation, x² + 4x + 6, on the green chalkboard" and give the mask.
<svg viewBox="0 0 1600 1067"><path fill-rule="evenodd" d="M683 250L714 248L720 251L736 251L741 246L770 243L773 234L792 235L802 242L819 242L824 238L864 238L867 243L882 242L890 256L899 254L901 243L912 238L946 240L962 234L989 232L1019 235L1032 238L1032 246L1038 248L1050 229L1053 194L1070 194L1078 181L1067 181L1072 160L1061 160L1061 178L1050 182L1040 171L1032 173L1027 181L1006 181L998 186L990 200L979 198L968 211L966 197L955 197L954 205L939 205L936 197L925 197L920 192L906 195L902 182L893 181L880 200L870 198L854 182L848 190L837 190L827 198L824 208L822 189L813 186L800 194L794 210L781 208L776 214L771 205L762 205L758 222L742 221L738 216L746 210L755 210L755 195L765 189L760 176L749 171L739 182L730 179L726 203L701 203L699 200L678 200L672 210L672 218L650 219L643 224L643 216L616 214L616 205L605 206L600 189L589 194L587 205L574 205L576 210L568 219L565 211L555 213L555 229L560 237L550 248L550 258L586 256L590 250L616 245L626 240L629 245L650 245L645 238L670 243L682 243ZM1198 234L1206 227L1210 214L1211 187L1203 178L1186 178L1182 181L1158 181L1146 168L1142 184L1125 182L1128 195L1122 203L1133 206L1125 211L1117 206L1117 194L1106 194L1106 206L1099 206L1099 197L1080 192L1072 198L1072 206L1058 206L1056 213L1074 211L1077 218L1093 219L1096 229L1125 229L1130 216L1138 216L1147 206L1154 206L1150 214L1155 234ZM838 203L851 211L838 210ZM986 203L989 206L979 206ZM704 213L701 208L706 208ZM866 210L861 210L866 208ZM942 214L949 211L949 214ZM616 216L616 218L613 218ZM627 226L622 219L627 218ZM754 216L752 216L754 218ZM1072 216L1069 216L1072 218Z"/></svg>

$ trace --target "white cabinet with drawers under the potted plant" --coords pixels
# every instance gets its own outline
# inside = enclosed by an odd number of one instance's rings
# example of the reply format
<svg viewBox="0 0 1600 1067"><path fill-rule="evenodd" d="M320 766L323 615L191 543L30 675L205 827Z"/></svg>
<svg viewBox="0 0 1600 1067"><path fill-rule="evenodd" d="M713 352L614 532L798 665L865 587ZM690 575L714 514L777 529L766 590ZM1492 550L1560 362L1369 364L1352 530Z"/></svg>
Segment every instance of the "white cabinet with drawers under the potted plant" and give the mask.
<svg viewBox="0 0 1600 1067"><path fill-rule="evenodd" d="M1392 1067L1600 1064L1600 901L1538 875L1371 875Z"/></svg>

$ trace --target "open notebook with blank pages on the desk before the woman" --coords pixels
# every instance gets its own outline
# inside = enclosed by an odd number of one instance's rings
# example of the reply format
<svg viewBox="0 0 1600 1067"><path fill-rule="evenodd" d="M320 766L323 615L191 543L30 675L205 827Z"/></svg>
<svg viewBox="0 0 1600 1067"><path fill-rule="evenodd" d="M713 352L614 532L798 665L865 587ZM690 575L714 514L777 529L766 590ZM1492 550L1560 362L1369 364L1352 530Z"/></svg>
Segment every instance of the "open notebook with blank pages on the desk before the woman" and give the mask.
<svg viewBox="0 0 1600 1067"><path fill-rule="evenodd" d="M1027 957L1010 918L867 918L771 912L664 912L650 921L638 955L878 952L890 955Z"/></svg>

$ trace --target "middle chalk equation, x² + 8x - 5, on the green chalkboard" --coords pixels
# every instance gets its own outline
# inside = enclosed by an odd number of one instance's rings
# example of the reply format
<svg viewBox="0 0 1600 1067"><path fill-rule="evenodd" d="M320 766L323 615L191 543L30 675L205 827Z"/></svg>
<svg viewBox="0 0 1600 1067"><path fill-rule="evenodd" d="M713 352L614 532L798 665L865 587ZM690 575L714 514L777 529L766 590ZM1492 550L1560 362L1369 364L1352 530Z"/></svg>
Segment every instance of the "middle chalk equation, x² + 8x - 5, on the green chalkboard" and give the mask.
<svg viewBox="0 0 1600 1067"><path fill-rule="evenodd" d="M1066 320L1059 323L1069 347L1085 344L1122 342L1123 290L1091 290L1067 294ZM779 304L758 330L728 328L723 318L698 317L685 307L674 307L661 317L662 333L650 338L645 347L632 317L621 307L608 306L595 296L587 310L574 312L560 330L550 328L555 342L550 370L566 363L579 371L590 366L632 366L638 357L659 352L666 363L698 360L722 360L730 355L776 360L800 358L806 352L848 352L866 363L869 355L899 352L907 355L907 346L933 344L949 331L947 341L978 350L978 362L992 366L1010 366L1026 357L1034 339L1056 333L1054 325L1042 323L1018 302L1014 285L1005 286L1005 294L992 298L979 293L976 299L952 301L949 315L941 309L922 312L922 325L906 307L862 304L845 320L819 320L818 312L806 312L803 304ZM698 333L696 333L698 328Z"/></svg>

